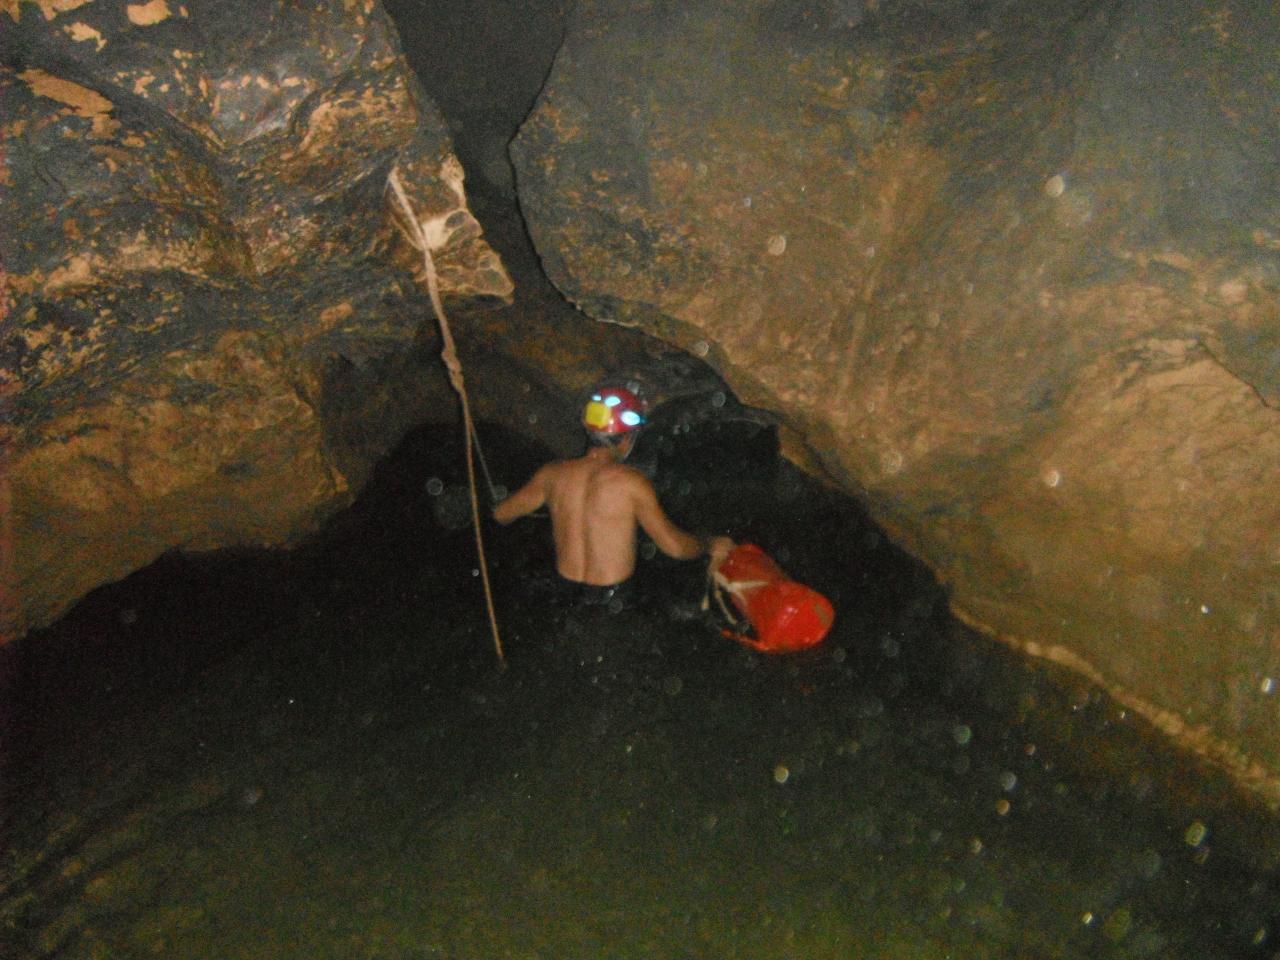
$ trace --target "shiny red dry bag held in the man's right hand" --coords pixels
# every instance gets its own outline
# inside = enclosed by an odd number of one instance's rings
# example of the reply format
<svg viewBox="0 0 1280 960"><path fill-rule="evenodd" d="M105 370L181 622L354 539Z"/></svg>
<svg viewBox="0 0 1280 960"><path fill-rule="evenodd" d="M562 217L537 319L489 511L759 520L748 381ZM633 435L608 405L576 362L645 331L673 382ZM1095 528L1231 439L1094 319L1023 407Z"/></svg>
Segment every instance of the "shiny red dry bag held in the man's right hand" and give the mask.
<svg viewBox="0 0 1280 960"><path fill-rule="evenodd" d="M714 580L754 632L750 636L739 630L730 635L764 653L795 653L817 646L836 618L831 600L787 577L754 543L735 547L716 571Z"/></svg>

